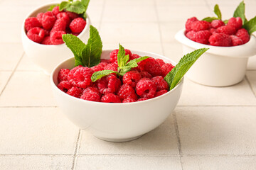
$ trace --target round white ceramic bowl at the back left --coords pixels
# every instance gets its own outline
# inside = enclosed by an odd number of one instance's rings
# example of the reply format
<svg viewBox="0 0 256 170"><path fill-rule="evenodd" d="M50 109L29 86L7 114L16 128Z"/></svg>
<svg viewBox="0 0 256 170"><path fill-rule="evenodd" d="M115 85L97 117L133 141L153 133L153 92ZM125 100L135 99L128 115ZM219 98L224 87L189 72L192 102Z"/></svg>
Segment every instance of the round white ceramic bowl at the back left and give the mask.
<svg viewBox="0 0 256 170"><path fill-rule="evenodd" d="M46 12L47 9L54 4L58 3L50 3L45 4L43 6L39 6L35 10L31 11L31 13L26 16L28 17L36 17L37 13ZM42 45L36 42L33 42L30 40L25 31L25 20L23 21L22 27L21 27L21 40L23 49L26 52L26 55L39 67L41 67L46 74L50 74L52 72L53 68L60 62L62 62L65 59L68 59L70 56L73 56L73 53L70 51L70 49L65 45ZM86 26L84 30L78 35L78 38L82 40L83 42L87 42L89 35L90 35L90 18L87 15L86 18Z"/></svg>

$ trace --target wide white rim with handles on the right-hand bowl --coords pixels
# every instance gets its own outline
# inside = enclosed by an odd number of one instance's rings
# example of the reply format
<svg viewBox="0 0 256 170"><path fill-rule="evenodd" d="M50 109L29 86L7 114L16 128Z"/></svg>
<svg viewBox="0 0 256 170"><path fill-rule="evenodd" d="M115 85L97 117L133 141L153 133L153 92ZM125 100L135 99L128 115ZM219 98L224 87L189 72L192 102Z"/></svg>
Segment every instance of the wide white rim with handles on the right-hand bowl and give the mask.
<svg viewBox="0 0 256 170"><path fill-rule="evenodd" d="M175 39L181 44L186 45L188 47L192 47L194 49L198 48L209 48L207 51L213 55L220 55L225 57L238 57L238 58L245 58L251 57L252 55L256 55L256 38L255 35L250 35L250 40L243 45L231 46L231 47L219 47L213 45L205 45L199 42L195 42L190 40L185 35L186 29L183 28L179 30L176 35Z"/></svg>

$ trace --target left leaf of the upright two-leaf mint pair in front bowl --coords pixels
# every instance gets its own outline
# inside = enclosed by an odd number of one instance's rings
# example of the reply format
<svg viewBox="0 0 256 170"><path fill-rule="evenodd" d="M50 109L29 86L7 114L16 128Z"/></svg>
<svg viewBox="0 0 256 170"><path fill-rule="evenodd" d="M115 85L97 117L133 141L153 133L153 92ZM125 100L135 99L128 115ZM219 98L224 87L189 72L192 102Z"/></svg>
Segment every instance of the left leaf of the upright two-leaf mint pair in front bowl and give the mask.
<svg viewBox="0 0 256 170"><path fill-rule="evenodd" d="M63 34L63 41L70 50L73 52L75 57L75 67L78 65L83 65L82 61L82 50L85 48L85 43L82 42L77 36L72 34Z"/></svg>

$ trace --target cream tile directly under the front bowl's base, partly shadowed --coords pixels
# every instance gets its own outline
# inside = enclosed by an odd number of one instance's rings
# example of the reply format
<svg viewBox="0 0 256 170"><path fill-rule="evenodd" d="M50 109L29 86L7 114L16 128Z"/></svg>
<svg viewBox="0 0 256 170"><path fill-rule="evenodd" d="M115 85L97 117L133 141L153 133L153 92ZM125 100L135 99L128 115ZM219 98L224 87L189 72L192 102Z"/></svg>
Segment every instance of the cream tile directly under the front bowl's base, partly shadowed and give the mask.
<svg viewBox="0 0 256 170"><path fill-rule="evenodd" d="M83 131L78 154L177 155L172 115L155 130L131 142L105 142Z"/></svg>

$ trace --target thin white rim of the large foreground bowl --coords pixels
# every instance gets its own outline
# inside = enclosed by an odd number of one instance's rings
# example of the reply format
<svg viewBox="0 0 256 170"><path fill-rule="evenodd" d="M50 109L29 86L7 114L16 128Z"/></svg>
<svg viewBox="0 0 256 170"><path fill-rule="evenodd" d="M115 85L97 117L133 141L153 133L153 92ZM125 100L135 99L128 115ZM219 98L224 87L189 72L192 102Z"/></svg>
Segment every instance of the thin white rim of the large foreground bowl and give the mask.
<svg viewBox="0 0 256 170"><path fill-rule="evenodd" d="M102 50L102 52L105 51L105 52L112 52L112 50L109 50L109 49L106 49L106 50ZM137 53L137 52L142 52L142 53L146 53L148 55L158 55L154 52L146 52L146 51L140 51L140 50L131 50L132 53ZM164 55L160 55L161 57L163 57L165 60L168 60L171 62L171 64L175 64L176 65L176 62L174 62L173 60L171 60L170 58L168 57L165 57ZM150 57L150 56L149 56ZM107 105L107 106L124 106L124 105L137 105L138 103L145 103L145 102L151 102L151 101L154 101L154 100L159 100L160 98L163 98L164 96L167 96L167 95L170 95L170 94L173 94L174 91L176 91L177 89L180 89L182 88L182 85L183 85L183 81L184 81L184 77L182 77L181 81L179 81L179 83L174 87L174 89L171 89L170 91L168 91L166 94L162 94L161 96L157 96L157 97L154 97L154 98L149 98L145 101L136 101L136 102L130 102L130 103L104 103L104 102L98 102L98 101L86 101L86 100L83 100L83 99L80 99L80 98L76 98L74 96L70 96L66 93L64 93L63 91L61 91L60 89L58 89L58 87L55 85L54 81L53 81L53 75L55 74L55 72L57 72L57 69L60 67L61 64L65 63L65 62L68 62L69 60L75 60L74 57L70 57L66 60L64 60L63 62L60 62L58 65L56 65L56 67L53 69L53 71L50 73L50 84L51 86L53 86L53 89L54 90L57 90L59 92L61 92L64 96L66 95L68 98L70 99L73 99L73 100L76 100L78 102L84 102L84 103L91 103L91 104L102 104L102 105Z"/></svg>

